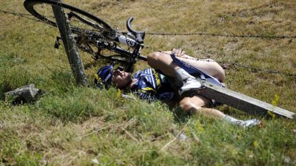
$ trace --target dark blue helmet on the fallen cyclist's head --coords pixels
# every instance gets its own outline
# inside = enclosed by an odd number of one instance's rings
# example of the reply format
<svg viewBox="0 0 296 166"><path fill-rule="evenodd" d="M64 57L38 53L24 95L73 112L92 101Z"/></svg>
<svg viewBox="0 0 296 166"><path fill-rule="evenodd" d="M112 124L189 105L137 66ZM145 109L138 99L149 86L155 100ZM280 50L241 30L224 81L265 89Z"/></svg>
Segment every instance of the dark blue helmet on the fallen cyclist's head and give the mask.
<svg viewBox="0 0 296 166"><path fill-rule="evenodd" d="M97 74L95 74L95 85L97 87L103 89L108 89L110 85L112 85L112 77L113 77L113 66L103 66L99 68Z"/></svg>

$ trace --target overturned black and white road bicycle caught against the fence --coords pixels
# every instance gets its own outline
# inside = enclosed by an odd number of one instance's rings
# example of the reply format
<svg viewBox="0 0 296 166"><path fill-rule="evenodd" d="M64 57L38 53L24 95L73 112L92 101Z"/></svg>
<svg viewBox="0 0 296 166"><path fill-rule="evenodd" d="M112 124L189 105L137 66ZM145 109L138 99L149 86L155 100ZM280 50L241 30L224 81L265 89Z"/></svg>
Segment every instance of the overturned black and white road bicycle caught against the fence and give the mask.
<svg viewBox="0 0 296 166"><path fill-rule="evenodd" d="M128 18L126 27L128 32L116 31L103 20L84 10L72 5L62 3L58 0L26 0L25 9L43 22L57 27L52 6L63 8L68 15L72 33L78 49L90 53L93 59L108 59L112 62L119 62L127 66L126 71L132 71L134 64L138 59L147 61L147 57L140 54L144 46L145 31L135 31L131 23L133 17ZM60 46L60 38L56 38L55 48ZM121 45L127 46L127 49ZM97 49L95 51L94 49ZM104 50L116 53L106 55Z"/></svg>

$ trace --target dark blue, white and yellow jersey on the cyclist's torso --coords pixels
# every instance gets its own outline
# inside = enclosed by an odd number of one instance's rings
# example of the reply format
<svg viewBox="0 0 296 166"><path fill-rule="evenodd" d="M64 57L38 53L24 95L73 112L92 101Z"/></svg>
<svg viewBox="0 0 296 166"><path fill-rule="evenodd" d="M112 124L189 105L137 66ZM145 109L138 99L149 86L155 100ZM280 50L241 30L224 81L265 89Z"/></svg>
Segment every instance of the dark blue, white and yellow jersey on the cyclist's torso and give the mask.
<svg viewBox="0 0 296 166"><path fill-rule="evenodd" d="M138 70L134 74L134 83L131 90L142 99L153 100L171 100L174 96L174 90L168 77L156 72L153 68Z"/></svg>

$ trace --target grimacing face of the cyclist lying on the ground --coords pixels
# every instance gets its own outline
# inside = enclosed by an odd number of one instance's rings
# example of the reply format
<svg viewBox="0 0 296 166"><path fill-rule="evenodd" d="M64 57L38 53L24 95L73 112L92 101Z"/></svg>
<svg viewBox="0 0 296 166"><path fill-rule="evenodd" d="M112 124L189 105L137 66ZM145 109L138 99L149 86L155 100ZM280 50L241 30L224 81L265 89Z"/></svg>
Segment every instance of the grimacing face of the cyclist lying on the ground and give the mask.
<svg viewBox="0 0 296 166"><path fill-rule="evenodd" d="M130 72L123 72L121 70L114 70L113 82L116 87L123 88L132 81L132 74Z"/></svg>

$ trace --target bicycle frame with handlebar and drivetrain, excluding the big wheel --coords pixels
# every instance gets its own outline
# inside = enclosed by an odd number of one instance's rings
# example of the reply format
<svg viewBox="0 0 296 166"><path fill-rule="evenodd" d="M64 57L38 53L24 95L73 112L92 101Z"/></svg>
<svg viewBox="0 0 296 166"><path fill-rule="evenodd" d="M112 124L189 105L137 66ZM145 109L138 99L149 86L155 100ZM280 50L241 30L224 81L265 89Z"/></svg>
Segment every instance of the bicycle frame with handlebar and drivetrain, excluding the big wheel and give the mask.
<svg viewBox="0 0 296 166"><path fill-rule="evenodd" d="M75 15L73 15L75 16ZM79 18L82 19L82 18ZM87 21L87 20L84 20ZM105 35L104 33L96 33L94 31L89 30L83 30L83 29L73 29L73 32L77 34L77 44L79 45L79 37L84 38L86 37L86 42L93 44L98 49L98 53L95 53L93 56L93 59L97 60L100 58L103 59L110 59L112 61L120 61L121 63L128 63L127 71L130 71L132 69L132 66L136 63L137 59L147 61L147 57L140 55L140 50L144 48L143 44L143 38L135 38L137 33L143 33L143 32L136 32L132 30L130 27L130 22L132 21L132 18L129 18L127 20L127 29L129 29L129 33L123 33L119 31L113 31L112 33L115 35L113 38L110 38L110 34ZM110 32L108 32L110 33ZM132 33L135 35L133 36ZM85 35L85 36L84 36ZM109 38L108 38L109 37ZM111 41L110 41L111 40ZM119 44L123 44L125 46L128 46L129 48L132 48L133 51L130 52L129 50L121 48ZM87 48L81 48L83 51L86 51L90 54L94 54L93 50L87 49ZM100 51L103 49L108 49L109 51L112 51L114 53L118 53L119 55L102 55ZM115 57L125 57L126 59L121 60Z"/></svg>

